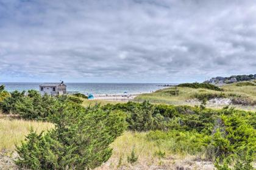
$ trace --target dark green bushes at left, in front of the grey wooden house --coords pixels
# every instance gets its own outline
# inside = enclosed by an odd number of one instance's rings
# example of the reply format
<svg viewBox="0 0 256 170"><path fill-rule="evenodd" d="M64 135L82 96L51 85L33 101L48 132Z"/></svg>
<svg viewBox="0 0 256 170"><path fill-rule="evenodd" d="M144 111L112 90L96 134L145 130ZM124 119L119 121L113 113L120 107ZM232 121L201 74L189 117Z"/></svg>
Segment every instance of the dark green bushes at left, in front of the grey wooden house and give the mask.
<svg viewBox="0 0 256 170"><path fill-rule="evenodd" d="M69 102L76 106L83 102L80 98L65 95L51 97L44 94L41 96L36 90L29 90L27 96L24 94L25 92L15 91L11 93L10 97L0 102L3 112L20 114L24 119L46 121L60 103Z"/></svg>

